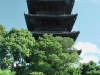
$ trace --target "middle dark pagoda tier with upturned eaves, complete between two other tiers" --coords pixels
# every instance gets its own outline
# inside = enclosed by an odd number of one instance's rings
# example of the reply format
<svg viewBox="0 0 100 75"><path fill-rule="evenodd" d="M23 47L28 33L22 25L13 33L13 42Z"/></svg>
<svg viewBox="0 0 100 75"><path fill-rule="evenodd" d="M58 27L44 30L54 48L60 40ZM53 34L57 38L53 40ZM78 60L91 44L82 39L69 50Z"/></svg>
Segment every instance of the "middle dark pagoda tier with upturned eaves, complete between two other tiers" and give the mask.
<svg viewBox="0 0 100 75"><path fill-rule="evenodd" d="M25 14L27 28L29 31L71 31L76 21L77 14L73 15L47 15L47 14Z"/></svg>

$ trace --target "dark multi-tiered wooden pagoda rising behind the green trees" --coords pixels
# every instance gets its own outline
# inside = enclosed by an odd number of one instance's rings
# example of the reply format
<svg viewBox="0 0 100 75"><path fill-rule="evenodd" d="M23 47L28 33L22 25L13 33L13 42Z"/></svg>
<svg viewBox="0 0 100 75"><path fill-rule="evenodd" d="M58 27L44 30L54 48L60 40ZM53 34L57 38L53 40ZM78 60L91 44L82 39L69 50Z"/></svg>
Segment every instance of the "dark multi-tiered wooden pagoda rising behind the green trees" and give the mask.
<svg viewBox="0 0 100 75"><path fill-rule="evenodd" d="M75 0L27 0L25 20L35 39L47 33L70 37L74 41L79 31L72 31L77 14L71 14Z"/></svg>

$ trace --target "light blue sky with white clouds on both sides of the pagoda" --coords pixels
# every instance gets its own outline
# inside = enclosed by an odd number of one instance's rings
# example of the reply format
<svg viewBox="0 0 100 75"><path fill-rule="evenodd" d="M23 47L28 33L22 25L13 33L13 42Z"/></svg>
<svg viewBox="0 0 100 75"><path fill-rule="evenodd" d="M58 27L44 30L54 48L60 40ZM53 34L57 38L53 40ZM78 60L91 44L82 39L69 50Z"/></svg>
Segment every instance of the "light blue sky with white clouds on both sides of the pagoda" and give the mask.
<svg viewBox="0 0 100 75"><path fill-rule="evenodd" d="M24 28L24 13L28 13L26 0L0 0L0 24L8 31L12 28ZM73 31L80 31L75 42L82 49L80 60L88 63L100 60L100 0L76 0L72 14L78 13Z"/></svg>

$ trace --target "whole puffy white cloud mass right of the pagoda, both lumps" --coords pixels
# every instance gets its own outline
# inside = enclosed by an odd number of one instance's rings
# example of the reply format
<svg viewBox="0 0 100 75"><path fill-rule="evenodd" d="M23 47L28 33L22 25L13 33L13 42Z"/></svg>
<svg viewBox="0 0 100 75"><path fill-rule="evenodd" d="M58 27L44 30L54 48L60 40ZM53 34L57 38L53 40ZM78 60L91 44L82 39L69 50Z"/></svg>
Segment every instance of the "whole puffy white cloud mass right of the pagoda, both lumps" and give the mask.
<svg viewBox="0 0 100 75"><path fill-rule="evenodd" d="M80 62L81 63L88 63L89 61L94 61L94 62L98 62L98 57L95 56L95 54L100 54L100 49L95 45L95 44L92 44L92 43L89 43L89 42L78 42L76 45L75 45L75 48L77 48L78 50L82 50L82 53L81 53L81 57L83 58ZM88 55L88 54L94 54L94 55Z"/></svg>

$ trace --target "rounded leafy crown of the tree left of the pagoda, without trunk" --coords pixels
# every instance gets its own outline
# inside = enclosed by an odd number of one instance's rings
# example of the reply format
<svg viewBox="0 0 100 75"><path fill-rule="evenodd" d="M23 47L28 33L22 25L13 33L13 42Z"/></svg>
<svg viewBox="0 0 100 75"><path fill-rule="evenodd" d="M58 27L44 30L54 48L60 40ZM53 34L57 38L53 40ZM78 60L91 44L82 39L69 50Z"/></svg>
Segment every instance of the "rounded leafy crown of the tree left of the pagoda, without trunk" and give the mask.
<svg viewBox="0 0 100 75"><path fill-rule="evenodd" d="M23 56L29 57L30 50L34 46L32 34L25 29L12 28L6 38L5 46L13 56L22 53Z"/></svg>

